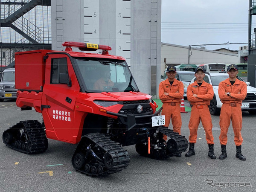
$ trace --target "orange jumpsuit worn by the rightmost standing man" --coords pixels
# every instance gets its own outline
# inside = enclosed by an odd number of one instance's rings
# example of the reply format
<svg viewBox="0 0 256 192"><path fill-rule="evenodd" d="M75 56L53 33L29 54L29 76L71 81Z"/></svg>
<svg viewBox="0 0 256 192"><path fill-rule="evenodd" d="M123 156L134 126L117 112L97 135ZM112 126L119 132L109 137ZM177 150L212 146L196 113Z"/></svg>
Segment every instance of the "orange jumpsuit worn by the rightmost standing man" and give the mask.
<svg viewBox="0 0 256 192"><path fill-rule="evenodd" d="M230 96L225 95L225 92L230 92ZM240 92L240 93L239 93ZM218 95L223 103L220 114L220 128L221 134L219 140L221 145L227 144L227 131L230 126L230 119L232 121L233 131L235 134L234 141L236 146L243 142L241 136L242 129L242 111L241 103L246 97L247 85L243 81L236 79L235 83L231 85L230 80L221 81L218 87Z"/></svg>

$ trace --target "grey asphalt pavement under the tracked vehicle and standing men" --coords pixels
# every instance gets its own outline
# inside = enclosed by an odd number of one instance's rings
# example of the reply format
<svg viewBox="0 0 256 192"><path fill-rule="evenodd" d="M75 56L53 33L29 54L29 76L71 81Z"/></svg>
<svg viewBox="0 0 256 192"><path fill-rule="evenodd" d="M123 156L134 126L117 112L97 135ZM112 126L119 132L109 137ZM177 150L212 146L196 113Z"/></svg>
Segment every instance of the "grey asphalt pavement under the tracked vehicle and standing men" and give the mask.
<svg viewBox="0 0 256 192"><path fill-rule="evenodd" d="M185 106L189 104L185 100ZM190 113L181 113L181 134L189 137ZM127 169L107 177L88 177L76 172L71 157L76 145L48 140L49 148L41 154L23 154L0 143L0 191L1 192L203 192L203 191L256 191L256 115L243 112L241 161L235 157L233 129L228 131L227 158L219 160L221 147L219 116L212 116L215 155L208 157L208 145L204 128L199 125L195 155L154 160L137 154L135 145L124 147L130 155ZM20 111L15 101L0 102L0 135L7 128L22 120L38 120L41 113ZM170 125L169 128L172 128Z"/></svg>

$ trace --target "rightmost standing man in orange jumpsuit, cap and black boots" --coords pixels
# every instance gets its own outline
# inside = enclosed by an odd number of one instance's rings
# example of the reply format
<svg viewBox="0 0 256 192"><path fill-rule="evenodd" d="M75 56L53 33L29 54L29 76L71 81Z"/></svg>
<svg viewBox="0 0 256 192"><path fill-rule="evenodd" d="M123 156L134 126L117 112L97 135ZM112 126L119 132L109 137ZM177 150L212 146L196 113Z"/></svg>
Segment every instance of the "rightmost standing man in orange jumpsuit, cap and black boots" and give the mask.
<svg viewBox="0 0 256 192"><path fill-rule="evenodd" d="M221 134L219 140L221 143L221 155L219 159L227 157L227 131L232 121L233 131L235 134L234 141L236 144L236 157L240 160L246 160L241 154L241 144L243 138L241 136L242 129L242 111L241 103L247 94L247 85L244 81L239 81L236 76L238 74L237 65L231 64L227 67L229 78L221 81L218 86L218 94L223 103L220 114Z"/></svg>

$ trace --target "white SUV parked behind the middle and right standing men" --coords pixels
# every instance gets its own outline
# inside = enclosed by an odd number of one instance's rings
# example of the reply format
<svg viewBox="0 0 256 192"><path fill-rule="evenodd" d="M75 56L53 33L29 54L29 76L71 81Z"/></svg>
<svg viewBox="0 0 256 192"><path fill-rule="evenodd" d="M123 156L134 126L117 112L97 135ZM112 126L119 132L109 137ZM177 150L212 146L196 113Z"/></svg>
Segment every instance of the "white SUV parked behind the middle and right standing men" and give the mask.
<svg viewBox="0 0 256 192"><path fill-rule="evenodd" d="M221 99L218 96L218 84L221 81L224 81L229 76L227 73L211 73L211 74L205 74L204 81L211 84L214 91L213 99L210 102L209 105L209 111L212 115L219 115L221 111ZM237 76L237 79L240 81L243 81L239 76ZM191 83L195 81L195 78L192 79ZM242 111L248 111L250 114L256 114L256 88L250 86L249 82L246 82L247 84L247 96L242 101L241 109Z"/></svg>

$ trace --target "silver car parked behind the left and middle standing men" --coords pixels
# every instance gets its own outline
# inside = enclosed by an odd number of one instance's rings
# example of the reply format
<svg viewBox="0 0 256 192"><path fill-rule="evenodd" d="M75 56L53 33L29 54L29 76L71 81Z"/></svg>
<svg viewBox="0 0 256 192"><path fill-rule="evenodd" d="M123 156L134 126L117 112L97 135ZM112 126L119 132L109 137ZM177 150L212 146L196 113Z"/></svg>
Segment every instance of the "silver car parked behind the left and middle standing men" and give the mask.
<svg viewBox="0 0 256 192"><path fill-rule="evenodd" d="M184 97L186 97L186 91L189 86L190 81L195 77L195 72L192 71L177 71L177 74L175 78L179 81L183 82L184 86ZM165 79L161 79L162 81L166 80L167 76L165 76Z"/></svg>

